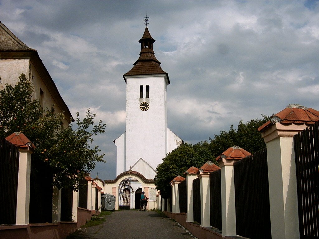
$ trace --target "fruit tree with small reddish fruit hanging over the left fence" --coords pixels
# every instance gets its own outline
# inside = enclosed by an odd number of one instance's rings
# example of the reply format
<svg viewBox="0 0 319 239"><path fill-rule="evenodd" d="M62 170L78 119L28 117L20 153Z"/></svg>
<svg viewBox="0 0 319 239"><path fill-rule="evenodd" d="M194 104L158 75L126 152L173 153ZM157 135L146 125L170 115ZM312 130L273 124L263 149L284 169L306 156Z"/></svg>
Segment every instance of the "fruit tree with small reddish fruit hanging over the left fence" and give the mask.
<svg viewBox="0 0 319 239"><path fill-rule="evenodd" d="M59 189L78 190L80 178L91 172L96 162L105 162L104 154L99 155L100 148L91 148L90 144L93 136L105 133L106 124L101 120L96 124L96 114L88 109L83 120L77 113L75 125L62 129L64 114L42 109L32 95L32 83L24 74L15 86L6 84L0 90L0 137L14 132L25 134L36 146L33 156L49 165L53 184Z"/></svg>

